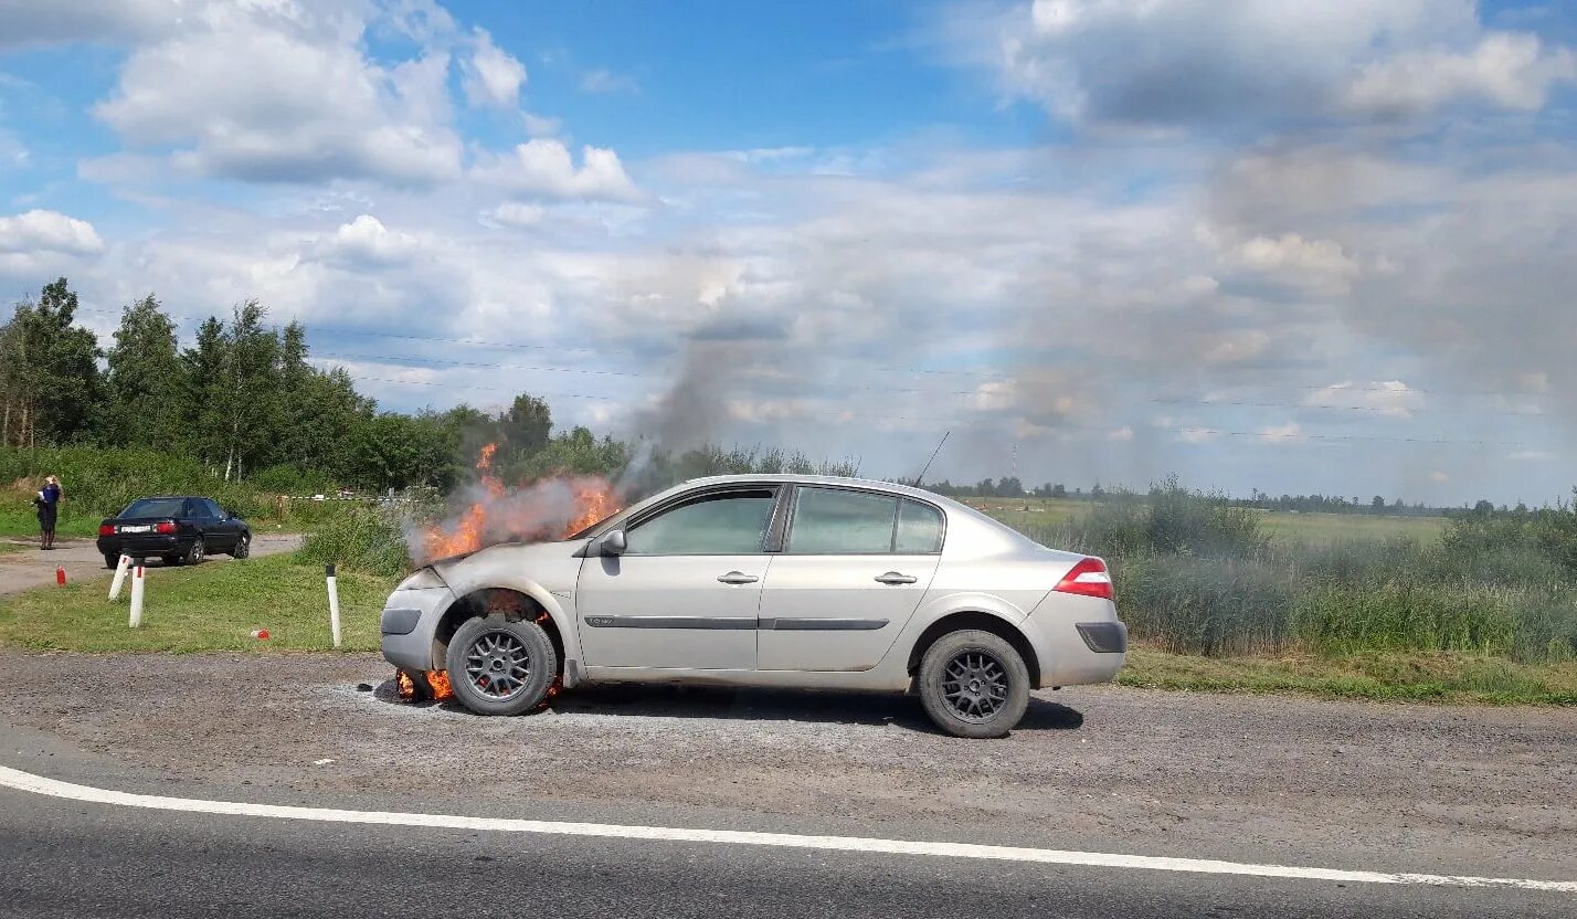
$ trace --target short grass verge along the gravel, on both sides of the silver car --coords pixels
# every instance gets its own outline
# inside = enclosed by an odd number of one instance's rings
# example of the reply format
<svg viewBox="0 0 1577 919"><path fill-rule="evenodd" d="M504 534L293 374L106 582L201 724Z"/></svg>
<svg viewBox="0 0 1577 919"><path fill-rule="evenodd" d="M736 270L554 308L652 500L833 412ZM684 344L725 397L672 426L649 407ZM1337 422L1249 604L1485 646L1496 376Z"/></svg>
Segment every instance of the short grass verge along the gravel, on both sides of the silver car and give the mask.
<svg viewBox="0 0 1577 919"><path fill-rule="evenodd" d="M377 618L396 579L342 574L344 648L374 651ZM289 556L150 569L144 624L104 599L107 574L46 586L0 608L0 643L57 651L328 651L322 569ZM270 638L252 638L268 629ZM1134 648L1123 686L1333 698L1484 705L1577 705L1577 662L1515 664L1467 653L1222 656Z"/></svg>

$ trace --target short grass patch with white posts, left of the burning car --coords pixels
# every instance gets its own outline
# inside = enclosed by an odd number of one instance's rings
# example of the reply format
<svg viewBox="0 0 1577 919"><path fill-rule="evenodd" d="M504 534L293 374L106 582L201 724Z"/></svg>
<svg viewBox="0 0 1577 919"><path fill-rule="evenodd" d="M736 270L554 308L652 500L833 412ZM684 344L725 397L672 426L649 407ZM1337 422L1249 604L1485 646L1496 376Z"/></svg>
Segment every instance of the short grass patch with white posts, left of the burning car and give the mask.
<svg viewBox="0 0 1577 919"><path fill-rule="evenodd" d="M147 569L142 626L129 629L129 586L109 602L109 572L46 586L0 604L0 642L55 651L328 651L323 569L290 556ZM347 651L378 646L378 612L393 579L339 577L341 634ZM252 638L268 629L270 638Z"/></svg>

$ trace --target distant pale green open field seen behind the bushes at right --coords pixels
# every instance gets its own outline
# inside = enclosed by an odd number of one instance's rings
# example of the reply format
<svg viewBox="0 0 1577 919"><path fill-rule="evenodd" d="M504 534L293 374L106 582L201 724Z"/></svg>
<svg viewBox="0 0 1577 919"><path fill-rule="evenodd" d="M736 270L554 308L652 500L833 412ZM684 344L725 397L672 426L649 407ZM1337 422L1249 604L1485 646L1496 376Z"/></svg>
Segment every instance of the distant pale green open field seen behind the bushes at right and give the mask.
<svg viewBox="0 0 1577 919"><path fill-rule="evenodd" d="M1038 530L1071 523L1087 515L1098 501L1071 498L965 498L992 517L1019 530ZM1445 517L1392 517L1386 514L1293 514L1287 511L1252 511L1260 530L1271 538L1304 545L1392 539L1397 536L1433 542L1446 528Z"/></svg>

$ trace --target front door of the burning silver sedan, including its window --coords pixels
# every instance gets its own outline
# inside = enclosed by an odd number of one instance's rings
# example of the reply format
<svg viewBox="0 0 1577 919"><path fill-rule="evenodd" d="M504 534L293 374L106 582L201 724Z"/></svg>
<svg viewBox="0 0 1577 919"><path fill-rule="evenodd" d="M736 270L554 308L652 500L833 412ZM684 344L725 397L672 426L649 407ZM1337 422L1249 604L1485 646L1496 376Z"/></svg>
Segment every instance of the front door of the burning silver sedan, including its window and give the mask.
<svg viewBox="0 0 1577 919"><path fill-rule="evenodd" d="M632 520L621 555L580 566L588 667L751 670L777 487L683 495Z"/></svg>

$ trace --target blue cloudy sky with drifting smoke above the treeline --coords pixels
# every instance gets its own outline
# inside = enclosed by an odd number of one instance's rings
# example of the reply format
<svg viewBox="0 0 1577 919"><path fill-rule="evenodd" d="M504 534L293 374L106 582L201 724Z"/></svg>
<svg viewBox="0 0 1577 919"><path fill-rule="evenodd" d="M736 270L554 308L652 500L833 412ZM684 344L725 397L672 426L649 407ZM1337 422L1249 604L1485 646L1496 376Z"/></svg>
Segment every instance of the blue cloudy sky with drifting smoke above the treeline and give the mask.
<svg viewBox="0 0 1577 919"><path fill-rule="evenodd" d="M1547 501L1574 43L1550 2L21 0L0 293L255 296L390 408L878 476L953 430L953 479Z"/></svg>

